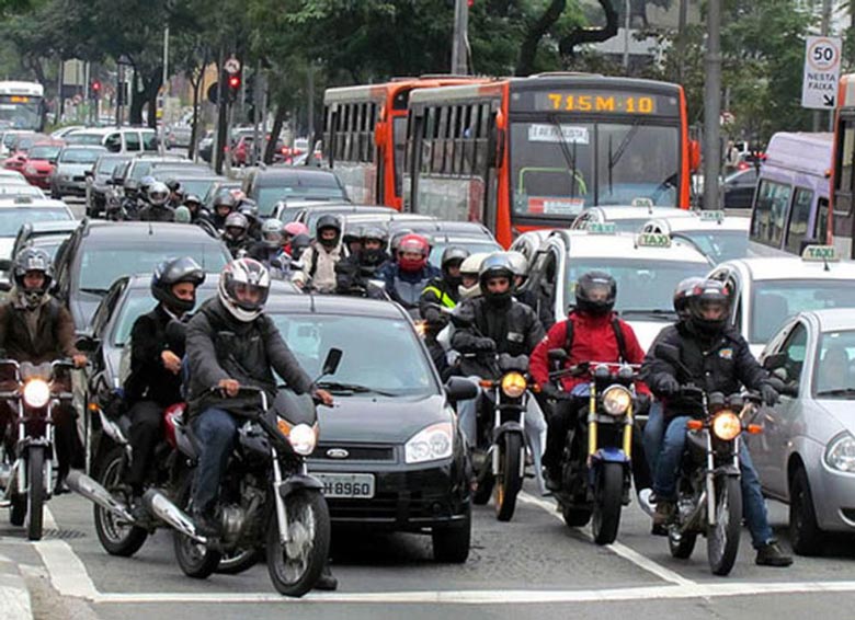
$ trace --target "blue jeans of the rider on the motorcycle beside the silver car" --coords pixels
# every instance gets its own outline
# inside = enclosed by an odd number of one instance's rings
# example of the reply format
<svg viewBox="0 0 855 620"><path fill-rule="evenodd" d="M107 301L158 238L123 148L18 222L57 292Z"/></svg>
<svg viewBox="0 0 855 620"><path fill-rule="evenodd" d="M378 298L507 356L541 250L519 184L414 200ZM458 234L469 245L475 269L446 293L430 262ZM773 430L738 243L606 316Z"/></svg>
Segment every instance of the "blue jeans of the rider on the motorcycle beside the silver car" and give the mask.
<svg viewBox="0 0 855 620"><path fill-rule="evenodd" d="M676 473L686 444L687 416L673 418L665 429L662 450L657 459L653 475L653 492L664 500L673 500L676 494ZM774 540L766 515L766 502L760 490L760 478L751 461L751 455L744 441L739 443L740 485L742 487L742 517L751 532L754 549Z"/></svg>

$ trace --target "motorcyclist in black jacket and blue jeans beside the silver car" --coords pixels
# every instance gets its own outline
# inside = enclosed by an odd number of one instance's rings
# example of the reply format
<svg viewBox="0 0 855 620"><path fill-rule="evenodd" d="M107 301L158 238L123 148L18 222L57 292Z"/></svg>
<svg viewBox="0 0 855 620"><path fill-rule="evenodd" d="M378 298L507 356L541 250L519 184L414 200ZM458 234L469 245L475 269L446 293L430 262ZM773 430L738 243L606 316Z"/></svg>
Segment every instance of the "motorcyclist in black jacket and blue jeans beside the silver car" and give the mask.
<svg viewBox="0 0 855 620"><path fill-rule="evenodd" d="M681 386L693 383L709 392L730 394L740 384L757 390L767 404L778 400L766 371L757 364L749 345L728 322L730 290L718 280L707 279L687 296L687 317L668 326L657 343L679 348L682 365L657 356L651 347L642 367L642 376L653 393L662 399L666 429L657 459L653 477L657 513L654 524L666 524L674 513L676 474L686 441L686 423L699 405L681 398ZM740 483L743 515L751 532L755 562L766 566L788 566L793 559L775 541L766 516L757 472L744 441L740 441Z"/></svg>

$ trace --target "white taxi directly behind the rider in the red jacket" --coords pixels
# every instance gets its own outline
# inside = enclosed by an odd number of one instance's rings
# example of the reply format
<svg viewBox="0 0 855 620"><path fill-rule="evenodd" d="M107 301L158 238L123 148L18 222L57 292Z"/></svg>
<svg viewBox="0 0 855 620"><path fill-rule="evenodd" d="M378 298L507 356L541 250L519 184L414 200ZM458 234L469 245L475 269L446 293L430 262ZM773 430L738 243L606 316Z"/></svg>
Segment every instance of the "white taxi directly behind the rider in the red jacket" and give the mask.
<svg viewBox="0 0 855 620"><path fill-rule="evenodd" d="M612 222L591 222L585 230L551 231L534 256L525 288L535 292L557 322L575 302L579 276L594 269L609 273L617 283L615 310L647 351L662 328L676 319L672 296L677 283L703 276L710 266L686 241L668 234L622 233Z"/></svg>

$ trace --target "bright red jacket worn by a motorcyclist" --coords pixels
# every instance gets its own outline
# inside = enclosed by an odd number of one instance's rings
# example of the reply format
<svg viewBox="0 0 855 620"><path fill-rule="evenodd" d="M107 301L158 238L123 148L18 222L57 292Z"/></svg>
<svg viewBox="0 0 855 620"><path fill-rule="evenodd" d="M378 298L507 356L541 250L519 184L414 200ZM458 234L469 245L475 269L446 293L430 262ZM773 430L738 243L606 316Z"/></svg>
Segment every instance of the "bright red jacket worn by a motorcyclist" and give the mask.
<svg viewBox="0 0 855 620"><path fill-rule="evenodd" d="M590 314L571 313L567 321L573 322L573 345L568 352L568 359L565 367L573 366L582 361L613 361L617 363L620 358L615 330L612 326L614 313L605 317L591 317ZM567 321L556 323L542 340L529 360L532 377L540 384L548 382L549 374L549 349L565 348L567 344ZM626 343L626 361L630 364L641 364L645 359L645 352L638 344L636 333L626 322L618 319L620 330L624 332L624 342ZM586 383L589 377L565 377L561 384L566 392L573 389L579 383ZM638 393L649 394L650 390L641 382L636 381Z"/></svg>

